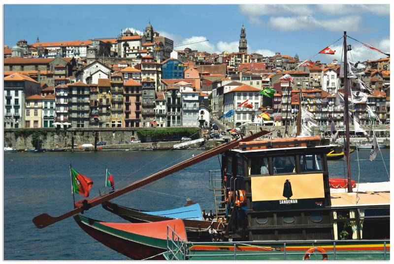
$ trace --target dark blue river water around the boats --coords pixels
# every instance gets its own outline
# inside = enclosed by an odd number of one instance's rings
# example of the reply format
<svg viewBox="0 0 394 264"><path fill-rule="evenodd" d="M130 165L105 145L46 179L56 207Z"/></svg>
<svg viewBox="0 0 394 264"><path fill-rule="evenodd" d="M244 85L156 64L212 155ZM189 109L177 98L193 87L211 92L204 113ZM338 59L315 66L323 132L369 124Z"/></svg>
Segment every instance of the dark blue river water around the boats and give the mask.
<svg viewBox="0 0 394 264"><path fill-rule="evenodd" d="M389 181L380 155L371 162L369 152L359 151L360 182ZM114 177L115 186L122 187L198 153L201 150L4 153L4 259L126 260L83 232L72 218L44 229L35 228L32 218L43 212L56 216L72 209L70 163L94 181L90 195L94 197L99 189L103 192L106 167ZM390 172L390 150L383 149L382 154ZM355 152L352 159L356 158ZM343 160L328 161L328 166L331 178L343 178ZM219 168L218 158L213 157L112 201L159 211L181 207L186 198L191 198L209 211L213 209L213 194L208 190L208 170ZM355 160L352 160L352 174L357 181L359 168ZM83 198L75 196L76 200ZM85 215L125 222L100 206Z"/></svg>

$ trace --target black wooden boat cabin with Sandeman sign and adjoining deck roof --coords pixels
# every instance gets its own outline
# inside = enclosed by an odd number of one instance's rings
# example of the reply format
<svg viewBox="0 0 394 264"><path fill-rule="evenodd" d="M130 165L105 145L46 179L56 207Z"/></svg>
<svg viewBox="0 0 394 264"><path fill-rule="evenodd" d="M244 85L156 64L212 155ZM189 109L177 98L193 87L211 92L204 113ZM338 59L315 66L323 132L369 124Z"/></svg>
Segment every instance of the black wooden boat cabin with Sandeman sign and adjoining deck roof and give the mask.
<svg viewBox="0 0 394 264"><path fill-rule="evenodd" d="M389 238L389 192L379 201L358 193L359 204L356 193L330 194L332 147L306 136L243 142L223 153L224 240Z"/></svg>

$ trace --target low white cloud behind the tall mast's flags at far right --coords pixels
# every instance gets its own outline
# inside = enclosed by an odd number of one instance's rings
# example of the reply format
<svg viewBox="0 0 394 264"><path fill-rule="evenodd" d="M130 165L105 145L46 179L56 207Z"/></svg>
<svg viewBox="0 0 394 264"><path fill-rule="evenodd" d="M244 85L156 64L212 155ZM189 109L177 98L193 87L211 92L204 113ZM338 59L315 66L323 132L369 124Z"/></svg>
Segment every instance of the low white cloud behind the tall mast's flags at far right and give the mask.
<svg viewBox="0 0 394 264"><path fill-rule="evenodd" d="M365 42L364 42L365 43ZM371 50L364 45L353 41L351 39L348 39L348 44L352 45L352 50L348 52L348 60L350 61L365 61L365 60L375 60L379 58L385 58L386 55L379 53L377 51ZM381 40L376 40L376 41L371 41L366 43L370 46L373 46L382 52L390 53L390 39L389 38L384 38ZM343 50L342 50L342 45L336 45L330 47L331 50L336 51L334 55L320 55L320 58L322 61L329 61L332 59L337 59L338 63L343 60Z"/></svg>

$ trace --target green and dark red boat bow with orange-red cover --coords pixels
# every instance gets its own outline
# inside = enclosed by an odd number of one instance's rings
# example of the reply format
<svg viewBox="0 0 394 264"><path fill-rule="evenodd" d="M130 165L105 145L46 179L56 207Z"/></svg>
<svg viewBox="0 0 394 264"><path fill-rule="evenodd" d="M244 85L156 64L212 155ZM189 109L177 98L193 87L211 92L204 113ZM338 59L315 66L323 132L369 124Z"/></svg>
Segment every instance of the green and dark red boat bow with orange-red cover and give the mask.
<svg viewBox="0 0 394 264"><path fill-rule="evenodd" d="M181 219L152 223L107 223L77 214L74 220L92 238L133 260L164 260L167 234L188 240ZM169 233L167 226L170 227ZM171 229L174 230L173 234Z"/></svg>

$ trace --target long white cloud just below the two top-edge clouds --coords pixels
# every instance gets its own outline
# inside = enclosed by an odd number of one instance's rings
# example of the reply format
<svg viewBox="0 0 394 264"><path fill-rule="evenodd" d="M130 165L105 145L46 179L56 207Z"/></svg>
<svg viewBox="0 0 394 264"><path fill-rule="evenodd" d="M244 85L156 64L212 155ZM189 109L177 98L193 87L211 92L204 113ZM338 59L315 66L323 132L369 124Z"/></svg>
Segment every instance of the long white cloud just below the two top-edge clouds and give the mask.
<svg viewBox="0 0 394 264"><path fill-rule="evenodd" d="M299 17L271 17L268 24L282 31L293 31L301 29L322 28L329 31L342 31L343 26L352 32L360 31L361 17L342 17L330 20L317 20L312 16Z"/></svg>

